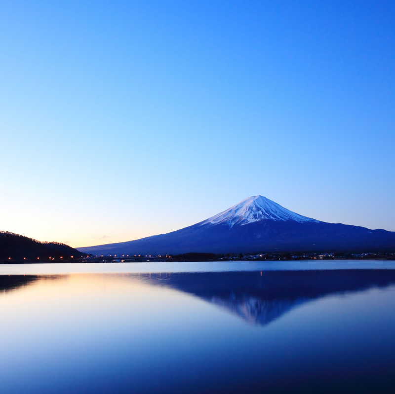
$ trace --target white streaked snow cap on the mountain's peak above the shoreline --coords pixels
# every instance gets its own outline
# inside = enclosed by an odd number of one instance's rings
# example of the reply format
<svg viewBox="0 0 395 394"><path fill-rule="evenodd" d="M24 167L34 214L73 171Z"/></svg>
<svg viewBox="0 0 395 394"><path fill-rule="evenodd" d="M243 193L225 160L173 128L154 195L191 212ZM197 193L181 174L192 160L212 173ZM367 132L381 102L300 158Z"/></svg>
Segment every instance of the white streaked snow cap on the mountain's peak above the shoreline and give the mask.
<svg viewBox="0 0 395 394"><path fill-rule="evenodd" d="M319 220L296 214L263 196L251 196L233 207L202 221L200 225L226 223L229 227L235 224L244 225L260 220L295 220L299 223Z"/></svg>

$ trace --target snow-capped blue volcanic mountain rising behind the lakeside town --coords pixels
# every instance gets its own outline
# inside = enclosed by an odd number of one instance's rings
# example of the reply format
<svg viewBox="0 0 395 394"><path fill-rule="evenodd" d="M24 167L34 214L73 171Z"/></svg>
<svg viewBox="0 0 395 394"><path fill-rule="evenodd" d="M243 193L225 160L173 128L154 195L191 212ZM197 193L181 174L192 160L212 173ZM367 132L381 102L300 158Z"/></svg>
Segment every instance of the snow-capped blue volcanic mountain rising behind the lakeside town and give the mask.
<svg viewBox="0 0 395 394"><path fill-rule="evenodd" d="M319 221L263 196L249 197L226 211L167 234L78 248L104 255L394 249L395 232Z"/></svg>

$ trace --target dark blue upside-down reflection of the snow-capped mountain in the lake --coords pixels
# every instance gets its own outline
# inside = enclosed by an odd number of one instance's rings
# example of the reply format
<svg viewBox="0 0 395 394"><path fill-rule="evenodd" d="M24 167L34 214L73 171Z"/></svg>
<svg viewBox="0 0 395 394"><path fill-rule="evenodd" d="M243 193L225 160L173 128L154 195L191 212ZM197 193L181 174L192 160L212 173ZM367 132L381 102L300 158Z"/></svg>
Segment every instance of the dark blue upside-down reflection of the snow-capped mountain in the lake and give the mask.
<svg viewBox="0 0 395 394"><path fill-rule="evenodd" d="M263 325L316 298L393 285L395 270L169 273L140 278L196 295Z"/></svg>

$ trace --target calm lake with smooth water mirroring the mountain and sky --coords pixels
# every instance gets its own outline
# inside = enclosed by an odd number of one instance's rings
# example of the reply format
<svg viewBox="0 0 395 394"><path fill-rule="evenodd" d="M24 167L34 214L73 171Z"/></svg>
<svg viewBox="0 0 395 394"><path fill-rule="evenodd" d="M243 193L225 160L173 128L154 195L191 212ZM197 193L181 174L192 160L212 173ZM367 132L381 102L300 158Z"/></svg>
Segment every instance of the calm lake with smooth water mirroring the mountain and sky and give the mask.
<svg viewBox="0 0 395 394"><path fill-rule="evenodd" d="M395 262L1 264L1 393L393 393Z"/></svg>

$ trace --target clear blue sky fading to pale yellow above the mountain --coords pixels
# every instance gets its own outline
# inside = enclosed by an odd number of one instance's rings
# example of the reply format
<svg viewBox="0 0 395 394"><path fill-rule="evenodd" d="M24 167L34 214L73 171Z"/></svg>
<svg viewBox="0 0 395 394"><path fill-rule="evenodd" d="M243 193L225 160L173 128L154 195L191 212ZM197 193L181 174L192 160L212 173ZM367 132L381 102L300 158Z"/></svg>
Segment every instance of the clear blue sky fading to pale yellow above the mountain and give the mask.
<svg viewBox="0 0 395 394"><path fill-rule="evenodd" d="M394 1L5 1L0 227L72 246L262 194L395 230Z"/></svg>

